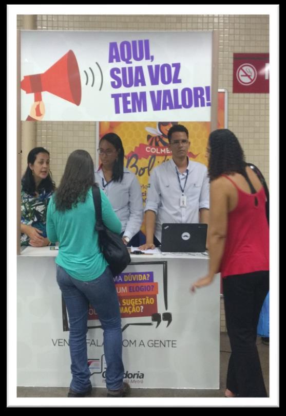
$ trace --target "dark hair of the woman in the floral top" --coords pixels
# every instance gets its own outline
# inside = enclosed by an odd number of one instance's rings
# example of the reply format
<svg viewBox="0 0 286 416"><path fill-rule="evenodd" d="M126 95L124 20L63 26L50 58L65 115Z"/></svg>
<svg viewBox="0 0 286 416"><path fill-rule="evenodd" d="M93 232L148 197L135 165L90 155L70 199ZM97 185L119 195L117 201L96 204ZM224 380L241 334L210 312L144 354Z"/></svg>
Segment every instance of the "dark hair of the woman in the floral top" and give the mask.
<svg viewBox="0 0 286 416"><path fill-rule="evenodd" d="M33 165L37 154L39 153L47 153L50 156L50 153L47 149L42 147L33 148L30 150L28 157L27 157L27 169L22 177L22 190L27 192L29 195L35 195L36 191L42 193L46 191L47 193L52 192L55 190L55 183L52 180L52 174L49 172L48 176L45 179L42 179L40 184L36 188L33 172L29 167L29 164Z"/></svg>

